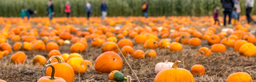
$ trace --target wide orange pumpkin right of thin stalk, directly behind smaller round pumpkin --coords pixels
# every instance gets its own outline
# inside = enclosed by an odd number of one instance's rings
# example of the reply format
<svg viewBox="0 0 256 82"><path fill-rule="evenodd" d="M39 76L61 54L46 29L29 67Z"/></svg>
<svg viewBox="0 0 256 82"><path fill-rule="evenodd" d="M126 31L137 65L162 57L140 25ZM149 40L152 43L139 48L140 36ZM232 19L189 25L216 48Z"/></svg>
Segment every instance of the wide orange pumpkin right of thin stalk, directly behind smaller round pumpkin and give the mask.
<svg viewBox="0 0 256 82"><path fill-rule="evenodd" d="M119 48L123 48L124 46L133 47L133 43L130 39L121 39L120 41L118 41L117 45Z"/></svg>

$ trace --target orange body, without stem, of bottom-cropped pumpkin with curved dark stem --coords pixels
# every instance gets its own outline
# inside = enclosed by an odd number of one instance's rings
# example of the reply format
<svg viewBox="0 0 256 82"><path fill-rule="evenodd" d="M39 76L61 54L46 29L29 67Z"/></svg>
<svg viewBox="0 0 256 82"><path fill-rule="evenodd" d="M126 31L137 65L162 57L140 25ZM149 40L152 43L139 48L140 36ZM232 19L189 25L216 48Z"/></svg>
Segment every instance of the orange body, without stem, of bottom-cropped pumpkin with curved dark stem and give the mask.
<svg viewBox="0 0 256 82"><path fill-rule="evenodd" d="M67 82L63 78L60 77L54 77L55 79L49 79L51 76L43 76L40 79L37 80L37 82Z"/></svg>

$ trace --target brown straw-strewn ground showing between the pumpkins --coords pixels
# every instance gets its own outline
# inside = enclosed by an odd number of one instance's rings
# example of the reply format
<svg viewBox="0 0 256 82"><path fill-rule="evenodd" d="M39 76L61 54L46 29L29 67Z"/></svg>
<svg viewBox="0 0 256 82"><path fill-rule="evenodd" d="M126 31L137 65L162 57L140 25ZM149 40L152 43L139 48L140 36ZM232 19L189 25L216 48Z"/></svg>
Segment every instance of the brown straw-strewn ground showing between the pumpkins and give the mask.
<svg viewBox="0 0 256 82"><path fill-rule="evenodd" d="M77 25L80 29L84 27ZM194 26L196 29L202 27ZM3 28L3 27L1 27ZM206 28L206 27L205 27ZM251 27L252 30L253 27ZM220 31L220 29L217 29ZM172 41L174 39L172 38ZM200 47L211 48L207 44L206 40L201 40ZM15 42L9 40L9 43L13 46ZM69 47L71 45L60 46L61 53L70 53ZM155 49L157 56L155 58L134 59L132 56L125 57L131 68L137 74L140 82L153 82L156 73L154 72L155 65L159 62L166 60L174 62L176 60L182 61L178 68L184 68L190 71L192 65L201 64L205 68L205 75L194 76L195 82L226 82L227 77L235 72L247 72L249 73L253 81L256 82L256 56L243 57L238 52L234 51L234 48L227 47L227 51L224 53L212 53L211 56L198 56L197 50L200 47L191 47L189 45L183 45L182 51L169 51L169 49ZM143 45L134 44L134 50L143 50ZM17 51L11 52L8 56L3 56L0 60L0 79L4 79L7 82L36 82L40 77L45 76L45 69L43 66L35 66L32 64L32 59L35 55L40 54L48 59L48 53L46 51L24 51L27 55L27 62L24 64L12 64L10 63L10 56ZM91 47L90 40L88 40L88 48L86 52L81 53L84 59L88 59L94 64L96 58L102 53L100 47ZM120 52L118 53L120 54ZM121 54L120 54L121 55ZM122 57L122 56L121 56ZM138 82L135 75L129 68L128 64L123 60L123 67L120 70L125 76L132 76L133 82ZM97 73L94 70L94 66L88 66L87 71L82 75L75 75L75 82L110 82L108 80L108 73Z"/></svg>

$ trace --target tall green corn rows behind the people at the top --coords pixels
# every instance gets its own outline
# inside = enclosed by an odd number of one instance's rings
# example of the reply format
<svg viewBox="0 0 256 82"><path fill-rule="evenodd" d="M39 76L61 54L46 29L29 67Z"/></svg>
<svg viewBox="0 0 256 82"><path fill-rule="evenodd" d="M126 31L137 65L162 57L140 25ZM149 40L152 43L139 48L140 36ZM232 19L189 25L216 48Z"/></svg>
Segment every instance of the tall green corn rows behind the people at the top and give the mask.
<svg viewBox="0 0 256 82"><path fill-rule="evenodd" d="M86 16L84 5L89 1L93 7L92 16L101 16L102 0L52 0L55 15L65 16L66 1L71 6L71 16ZM142 16L141 6L145 0L106 0L108 16ZM222 7L220 0L148 0L149 16L205 16L212 15L215 7ZM256 2L256 0L255 0ZM21 9L37 10L35 16L47 16L47 0L0 0L0 16L19 16ZM240 0L241 15L245 14L245 0ZM252 10L256 14L256 5ZM220 11L222 15L222 11Z"/></svg>

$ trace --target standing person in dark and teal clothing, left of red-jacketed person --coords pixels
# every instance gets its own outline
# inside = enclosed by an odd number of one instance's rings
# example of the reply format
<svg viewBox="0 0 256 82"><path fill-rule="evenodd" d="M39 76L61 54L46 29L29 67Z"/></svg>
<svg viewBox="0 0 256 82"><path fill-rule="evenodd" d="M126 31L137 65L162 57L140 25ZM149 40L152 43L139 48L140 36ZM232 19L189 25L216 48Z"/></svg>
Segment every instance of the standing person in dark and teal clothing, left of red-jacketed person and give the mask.
<svg viewBox="0 0 256 82"><path fill-rule="evenodd" d="M48 0L46 14L48 14L50 20L53 19L52 15L54 14L54 8L53 8L52 0Z"/></svg>

